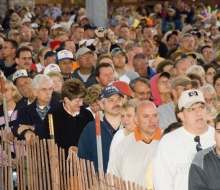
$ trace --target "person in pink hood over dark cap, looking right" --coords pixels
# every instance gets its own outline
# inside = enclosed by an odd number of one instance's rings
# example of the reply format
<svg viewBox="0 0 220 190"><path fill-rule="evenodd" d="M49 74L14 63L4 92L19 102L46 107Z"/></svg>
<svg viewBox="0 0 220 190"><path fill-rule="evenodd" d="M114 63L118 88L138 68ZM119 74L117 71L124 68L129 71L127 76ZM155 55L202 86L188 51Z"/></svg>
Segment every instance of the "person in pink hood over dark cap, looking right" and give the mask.
<svg viewBox="0 0 220 190"><path fill-rule="evenodd" d="M157 107L172 101L170 82L170 74L168 72L159 73L151 78L150 85L153 102Z"/></svg>

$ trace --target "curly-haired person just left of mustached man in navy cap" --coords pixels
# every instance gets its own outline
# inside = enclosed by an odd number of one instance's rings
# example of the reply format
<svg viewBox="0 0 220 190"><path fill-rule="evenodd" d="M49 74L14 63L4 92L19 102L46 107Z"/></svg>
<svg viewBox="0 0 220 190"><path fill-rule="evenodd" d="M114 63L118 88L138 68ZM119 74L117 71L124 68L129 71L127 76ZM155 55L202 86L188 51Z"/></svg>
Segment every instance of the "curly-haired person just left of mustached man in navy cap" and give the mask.
<svg viewBox="0 0 220 190"><path fill-rule="evenodd" d="M102 88L100 86L93 85L87 89L87 94L84 99L84 102L89 106L86 109L92 113L94 118L95 114L101 111L101 107L99 105L101 92Z"/></svg>

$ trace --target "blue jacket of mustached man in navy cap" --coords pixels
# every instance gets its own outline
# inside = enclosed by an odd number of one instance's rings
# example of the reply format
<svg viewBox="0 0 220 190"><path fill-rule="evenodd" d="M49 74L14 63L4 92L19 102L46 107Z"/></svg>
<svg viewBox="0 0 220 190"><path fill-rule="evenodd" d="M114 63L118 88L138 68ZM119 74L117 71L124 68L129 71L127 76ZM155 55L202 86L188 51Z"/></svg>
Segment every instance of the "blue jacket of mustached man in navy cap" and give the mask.
<svg viewBox="0 0 220 190"><path fill-rule="evenodd" d="M101 137L102 137L102 157L103 157L103 169L107 171L109 160L109 149L112 138L115 134L114 128L110 123L103 118L101 123ZM96 144L96 128L95 121L91 121L83 130L78 143L78 156L80 158L90 160L94 163L95 171L98 172L98 155Z"/></svg>

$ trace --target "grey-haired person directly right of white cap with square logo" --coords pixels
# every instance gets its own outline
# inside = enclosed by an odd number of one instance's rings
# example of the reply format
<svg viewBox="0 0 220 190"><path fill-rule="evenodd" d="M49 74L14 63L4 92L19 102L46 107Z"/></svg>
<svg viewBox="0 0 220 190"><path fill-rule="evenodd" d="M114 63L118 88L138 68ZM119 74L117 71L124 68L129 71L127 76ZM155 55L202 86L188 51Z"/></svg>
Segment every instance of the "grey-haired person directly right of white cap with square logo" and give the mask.
<svg viewBox="0 0 220 190"><path fill-rule="evenodd" d="M207 104L215 106L218 103L218 98L215 89L210 84L202 86L199 90L203 93L205 102Z"/></svg>

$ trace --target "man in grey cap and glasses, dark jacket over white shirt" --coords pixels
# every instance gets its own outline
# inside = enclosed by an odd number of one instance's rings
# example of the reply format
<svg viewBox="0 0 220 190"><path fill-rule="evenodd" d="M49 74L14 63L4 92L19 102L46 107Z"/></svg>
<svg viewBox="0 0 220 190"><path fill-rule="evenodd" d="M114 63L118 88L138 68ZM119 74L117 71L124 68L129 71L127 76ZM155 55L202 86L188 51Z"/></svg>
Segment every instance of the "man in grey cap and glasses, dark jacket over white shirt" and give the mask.
<svg viewBox="0 0 220 190"><path fill-rule="evenodd" d="M95 76L95 67L93 66L93 52L89 48L80 48L76 52L76 62L79 65L73 75L81 80L88 88L97 84Z"/></svg>

